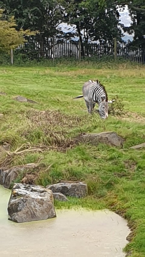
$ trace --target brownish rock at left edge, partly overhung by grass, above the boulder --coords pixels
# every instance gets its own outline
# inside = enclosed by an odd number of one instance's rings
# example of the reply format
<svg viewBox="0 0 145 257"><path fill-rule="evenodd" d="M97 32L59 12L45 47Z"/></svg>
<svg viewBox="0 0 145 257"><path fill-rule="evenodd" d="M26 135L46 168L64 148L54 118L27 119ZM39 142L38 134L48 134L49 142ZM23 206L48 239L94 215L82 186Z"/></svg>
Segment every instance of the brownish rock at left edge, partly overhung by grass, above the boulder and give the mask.
<svg viewBox="0 0 145 257"><path fill-rule="evenodd" d="M28 163L27 165L13 166L11 168L1 168L0 184L6 188L11 188L14 184L14 180L18 177L20 172L24 172L35 167L36 165L34 163Z"/></svg>

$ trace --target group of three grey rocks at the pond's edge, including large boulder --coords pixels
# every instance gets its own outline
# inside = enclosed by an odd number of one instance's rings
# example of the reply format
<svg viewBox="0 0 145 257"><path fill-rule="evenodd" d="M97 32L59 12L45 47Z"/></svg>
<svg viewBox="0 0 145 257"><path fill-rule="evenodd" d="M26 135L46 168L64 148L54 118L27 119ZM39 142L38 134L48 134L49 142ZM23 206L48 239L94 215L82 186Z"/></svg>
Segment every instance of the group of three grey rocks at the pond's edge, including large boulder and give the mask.
<svg viewBox="0 0 145 257"><path fill-rule="evenodd" d="M87 195L85 183L57 183L43 186L15 183L8 202L11 221L27 222L56 217L53 199L68 201L66 196Z"/></svg>

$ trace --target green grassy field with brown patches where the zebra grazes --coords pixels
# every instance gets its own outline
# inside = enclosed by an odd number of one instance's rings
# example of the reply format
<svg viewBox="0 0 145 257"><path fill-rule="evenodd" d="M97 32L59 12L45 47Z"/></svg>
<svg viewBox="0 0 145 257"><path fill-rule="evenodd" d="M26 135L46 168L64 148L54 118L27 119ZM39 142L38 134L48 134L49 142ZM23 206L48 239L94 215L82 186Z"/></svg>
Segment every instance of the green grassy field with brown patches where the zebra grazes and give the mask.
<svg viewBox="0 0 145 257"><path fill-rule="evenodd" d="M82 85L99 79L108 92L123 98L129 116L88 115ZM20 173L16 182L46 186L61 180L85 181L89 195L56 202L57 208L109 208L128 220L132 233L126 246L132 257L145 256L145 150L129 149L145 142L145 67L0 67L0 143L25 152L5 159L5 165L39 162L34 171ZM21 95L38 104L13 100ZM82 132L116 131L123 149L99 144L76 144ZM30 151L28 151L28 149ZM6 156L2 156L2 161Z"/></svg>

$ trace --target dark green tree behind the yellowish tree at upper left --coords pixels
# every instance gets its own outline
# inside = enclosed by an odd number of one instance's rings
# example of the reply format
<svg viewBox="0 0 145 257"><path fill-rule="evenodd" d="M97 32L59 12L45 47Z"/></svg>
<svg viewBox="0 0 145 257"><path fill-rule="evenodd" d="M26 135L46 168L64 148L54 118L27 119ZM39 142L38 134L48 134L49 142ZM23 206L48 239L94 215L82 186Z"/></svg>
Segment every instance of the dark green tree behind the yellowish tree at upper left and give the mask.
<svg viewBox="0 0 145 257"><path fill-rule="evenodd" d="M53 0L35 0L35 1L0 1L0 6L5 8L6 18L14 15L17 20L18 29L39 30L40 34L36 36L36 41L40 44L40 55L44 56L44 38L51 38L58 31L56 26L61 20L61 8L57 1ZM32 44L32 47L35 45ZM31 39L28 49L31 48Z"/></svg>

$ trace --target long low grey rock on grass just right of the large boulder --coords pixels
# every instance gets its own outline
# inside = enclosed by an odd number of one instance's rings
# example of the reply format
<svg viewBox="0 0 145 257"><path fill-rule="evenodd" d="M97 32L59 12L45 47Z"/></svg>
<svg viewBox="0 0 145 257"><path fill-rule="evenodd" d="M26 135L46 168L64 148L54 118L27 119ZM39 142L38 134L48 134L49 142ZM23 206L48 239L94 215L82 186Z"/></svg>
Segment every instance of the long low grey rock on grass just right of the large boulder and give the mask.
<svg viewBox="0 0 145 257"><path fill-rule="evenodd" d="M84 197L88 193L87 184L78 182L78 183L56 183L48 185L47 189L52 190L53 193L62 193L65 196L74 196L74 197Z"/></svg>

